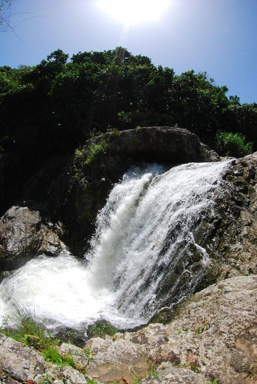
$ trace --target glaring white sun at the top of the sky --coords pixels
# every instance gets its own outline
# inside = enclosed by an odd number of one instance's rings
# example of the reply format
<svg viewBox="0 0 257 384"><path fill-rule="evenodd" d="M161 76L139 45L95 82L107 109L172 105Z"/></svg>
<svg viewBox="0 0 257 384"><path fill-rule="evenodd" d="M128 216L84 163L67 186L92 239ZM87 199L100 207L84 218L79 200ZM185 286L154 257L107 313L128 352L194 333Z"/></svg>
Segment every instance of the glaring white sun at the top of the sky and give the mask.
<svg viewBox="0 0 257 384"><path fill-rule="evenodd" d="M111 17L125 24L157 21L169 0L99 0L98 5Z"/></svg>

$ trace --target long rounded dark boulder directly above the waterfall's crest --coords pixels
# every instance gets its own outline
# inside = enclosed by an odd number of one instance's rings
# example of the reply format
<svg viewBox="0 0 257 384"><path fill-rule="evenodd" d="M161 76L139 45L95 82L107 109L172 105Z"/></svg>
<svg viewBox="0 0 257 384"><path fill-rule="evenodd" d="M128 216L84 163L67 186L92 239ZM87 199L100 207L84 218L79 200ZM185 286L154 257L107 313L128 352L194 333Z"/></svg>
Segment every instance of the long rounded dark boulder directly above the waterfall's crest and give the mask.
<svg viewBox="0 0 257 384"><path fill-rule="evenodd" d="M107 153L134 160L178 164L219 159L217 153L202 144L196 134L184 128L144 126L118 133L104 133L91 142L98 143L102 140L107 143Z"/></svg>

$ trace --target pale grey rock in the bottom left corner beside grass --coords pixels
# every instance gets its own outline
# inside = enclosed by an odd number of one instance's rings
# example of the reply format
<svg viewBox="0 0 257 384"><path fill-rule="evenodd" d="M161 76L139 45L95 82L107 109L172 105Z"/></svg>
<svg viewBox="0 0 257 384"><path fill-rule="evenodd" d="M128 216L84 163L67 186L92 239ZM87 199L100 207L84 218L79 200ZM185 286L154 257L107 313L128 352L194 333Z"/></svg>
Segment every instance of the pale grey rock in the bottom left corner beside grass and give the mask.
<svg viewBox="0 0 257 384"><path fill-rule="evenodd" d="M26 381L44 373L47 363L34 349L0 334L0 367L15 380Z"/></svg>

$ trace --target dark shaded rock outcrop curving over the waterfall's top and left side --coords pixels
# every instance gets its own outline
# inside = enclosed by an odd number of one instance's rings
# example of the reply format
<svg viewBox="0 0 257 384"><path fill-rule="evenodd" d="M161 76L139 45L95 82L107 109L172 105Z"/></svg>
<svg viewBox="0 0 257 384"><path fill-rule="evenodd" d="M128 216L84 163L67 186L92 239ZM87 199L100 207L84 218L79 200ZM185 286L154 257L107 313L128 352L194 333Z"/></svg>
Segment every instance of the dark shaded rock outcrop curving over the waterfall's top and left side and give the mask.
<svg viewBox="0 0 257 384"><path fill-rule="evenodd" d="M103 142L104 150L88 163L90 148ZM74 156L73 178L63 211L63 220L68 218L70 225L69 245L79 249L77 245L81 244L81 239L92 233L98 210L113 184L131 165L148 161L163 162L171 167L190 161L218 159L217 153L202 144L198 136L182 128L141 127L104 133L88 140L79 155Z"/></svg>

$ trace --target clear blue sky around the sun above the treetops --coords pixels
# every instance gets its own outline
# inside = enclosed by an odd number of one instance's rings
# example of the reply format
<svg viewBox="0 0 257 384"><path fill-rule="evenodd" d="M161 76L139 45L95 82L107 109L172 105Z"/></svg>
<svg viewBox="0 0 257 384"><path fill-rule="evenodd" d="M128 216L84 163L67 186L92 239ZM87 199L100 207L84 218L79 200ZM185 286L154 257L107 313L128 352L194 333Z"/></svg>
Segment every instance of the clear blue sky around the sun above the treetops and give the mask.
<svg viewBox="0 0 257 384"><path fill-rule="evenodd" d="M109 12L98 1L12 0L15 33L0 32L0 65L35 65L58 48L71 57L121 45L176 74L206 71L241 103L257 101L257 0L165 0L158 19L143 20L145 10L130 24L110 12L113 0L104 0ZM119 1L136 16L136 3L154 0Z"/></svg>

